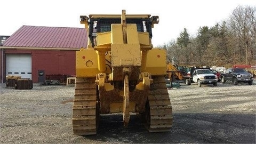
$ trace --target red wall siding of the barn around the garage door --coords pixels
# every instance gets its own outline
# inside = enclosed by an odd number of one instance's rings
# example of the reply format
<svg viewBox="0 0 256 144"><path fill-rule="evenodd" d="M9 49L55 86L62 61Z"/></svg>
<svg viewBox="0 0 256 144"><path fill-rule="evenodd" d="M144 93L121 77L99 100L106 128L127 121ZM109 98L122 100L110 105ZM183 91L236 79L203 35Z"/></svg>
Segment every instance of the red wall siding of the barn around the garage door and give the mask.
<svg viewBox="0 0 256 144"><path fill-rule="evenodd" d="M5 53L30 53L32 58L32 80L38 82L38 70L44 70L45 75L75 76L76 51L46 51L46 50L15 50L5 49Z"/></svg>

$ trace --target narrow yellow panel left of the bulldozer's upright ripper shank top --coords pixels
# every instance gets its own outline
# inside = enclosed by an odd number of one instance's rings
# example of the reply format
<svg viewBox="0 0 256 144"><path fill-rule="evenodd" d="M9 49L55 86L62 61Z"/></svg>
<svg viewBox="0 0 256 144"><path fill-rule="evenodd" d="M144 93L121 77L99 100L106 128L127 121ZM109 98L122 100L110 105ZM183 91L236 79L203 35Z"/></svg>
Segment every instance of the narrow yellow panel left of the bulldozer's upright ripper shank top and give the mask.
<svg viewBox="0 0 256 144"><path fill-rule="evenodd" d="M111 25L111 43L113 44L123 44L123 30L121 24L112 24Z"/></svg>

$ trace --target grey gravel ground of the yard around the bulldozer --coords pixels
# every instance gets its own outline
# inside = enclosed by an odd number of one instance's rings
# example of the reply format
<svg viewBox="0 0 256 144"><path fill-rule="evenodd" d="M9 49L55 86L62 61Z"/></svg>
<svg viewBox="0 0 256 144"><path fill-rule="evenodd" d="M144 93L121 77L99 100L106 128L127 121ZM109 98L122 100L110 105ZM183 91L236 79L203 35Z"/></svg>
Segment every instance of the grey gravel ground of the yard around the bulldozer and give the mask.
<svg viewBox="0 0 256 144"><path fill-rule="evenodd" d="M256 83L181 83L169 90L170 132L149 133L136 115L102 115L97 135L73 134L74 86L34 84L31 90L0 87L1 143L255 143Z"/></svg>

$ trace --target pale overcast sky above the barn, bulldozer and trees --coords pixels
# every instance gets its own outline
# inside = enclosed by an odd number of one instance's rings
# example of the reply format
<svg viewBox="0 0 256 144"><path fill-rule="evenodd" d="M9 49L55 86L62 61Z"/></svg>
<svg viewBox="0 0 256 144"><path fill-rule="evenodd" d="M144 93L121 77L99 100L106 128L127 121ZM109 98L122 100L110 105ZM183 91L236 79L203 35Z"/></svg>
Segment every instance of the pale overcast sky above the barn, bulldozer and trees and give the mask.
<svg viewBox="0 0 256 144"><path fill-rule="evenodd" d="M0 2L0 35L12 35L22 25L78 27L80 15L151 14L159 16L152 43L163 45L177 39L187 28L196 35L199 27L212 27L229 17L238 6L256 6L256 0L4 0Z"/></svg>

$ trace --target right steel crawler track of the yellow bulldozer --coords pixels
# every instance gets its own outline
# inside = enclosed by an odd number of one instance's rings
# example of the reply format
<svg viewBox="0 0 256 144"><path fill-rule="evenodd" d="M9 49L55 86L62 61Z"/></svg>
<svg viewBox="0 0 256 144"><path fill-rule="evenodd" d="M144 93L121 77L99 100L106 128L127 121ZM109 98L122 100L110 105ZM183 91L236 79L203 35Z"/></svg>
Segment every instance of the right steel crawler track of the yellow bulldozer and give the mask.
<svg viewBox="0 0 256 144"><path fill-rule="evenodd" d="M172 106L164 76L155 76L150 85L146 111L143 116L149 132L169 131L173 124Z"/></svg>

